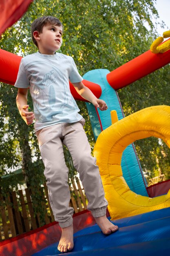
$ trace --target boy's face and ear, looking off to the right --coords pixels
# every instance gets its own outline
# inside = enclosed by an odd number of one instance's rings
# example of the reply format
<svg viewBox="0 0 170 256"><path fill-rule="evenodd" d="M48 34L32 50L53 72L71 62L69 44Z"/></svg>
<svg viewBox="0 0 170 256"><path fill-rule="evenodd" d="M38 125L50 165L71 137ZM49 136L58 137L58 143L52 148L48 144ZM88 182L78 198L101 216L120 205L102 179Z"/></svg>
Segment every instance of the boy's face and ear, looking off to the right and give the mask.
<svg viewBox="0 0 170 256"><path fill-rule="evenodd" d="M42 33L34 31L34 37L37 40L38 48L41 54L54 54L62 45L62 27L46 24Z"/></svg>

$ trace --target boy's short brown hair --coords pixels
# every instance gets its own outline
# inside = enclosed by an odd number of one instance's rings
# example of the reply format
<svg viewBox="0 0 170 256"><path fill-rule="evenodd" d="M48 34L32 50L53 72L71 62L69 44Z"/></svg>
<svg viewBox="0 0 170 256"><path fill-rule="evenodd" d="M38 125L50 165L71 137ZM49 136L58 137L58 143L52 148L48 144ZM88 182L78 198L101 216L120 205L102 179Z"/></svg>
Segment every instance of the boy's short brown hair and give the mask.
<svg viewBox="0 0 170 256"><path fill-rule="evenodd" d="M55 25L55 26L62 26L62 22L58 18L55 18L53 16L43 16L43 17L37 18L33 21L31 25L31 37L32 37L33 43L37 47L38 47L38 44L35 38L33 37L33 32L38 31L41 33L43 27L48 23L51 23L52 25Z"/></svg>

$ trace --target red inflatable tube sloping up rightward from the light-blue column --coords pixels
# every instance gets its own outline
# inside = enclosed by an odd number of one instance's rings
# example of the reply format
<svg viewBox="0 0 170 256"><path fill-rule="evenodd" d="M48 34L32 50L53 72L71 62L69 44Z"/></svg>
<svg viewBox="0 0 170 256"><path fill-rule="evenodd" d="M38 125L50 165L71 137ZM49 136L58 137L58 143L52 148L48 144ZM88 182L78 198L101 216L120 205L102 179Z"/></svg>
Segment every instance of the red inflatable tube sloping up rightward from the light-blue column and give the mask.
<svg viewBox="0 0 170 256"><path fill-rule="evenodd" d="M111 87L118 90L158 70L168 63L170 63L170 50L159 54L154 54L148 50L144 54L139 55L107 74L107 81Z"/></svg>

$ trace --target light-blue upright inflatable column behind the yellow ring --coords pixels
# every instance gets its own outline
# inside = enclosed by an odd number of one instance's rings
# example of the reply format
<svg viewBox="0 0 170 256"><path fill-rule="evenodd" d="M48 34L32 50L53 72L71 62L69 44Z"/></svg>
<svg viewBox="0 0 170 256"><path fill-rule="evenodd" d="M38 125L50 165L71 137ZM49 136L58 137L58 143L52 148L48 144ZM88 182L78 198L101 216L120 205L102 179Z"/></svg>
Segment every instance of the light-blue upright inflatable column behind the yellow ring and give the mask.
<svg viewBox="0 0 170 256"><path fill-rule="evenodd" d="M119 120L124 118L124 114L122 112L123 110L121 108L117 92L109 85L106 79L106 75L108 73L110 73L108 70L99 69L89 71L83 76L84 79L93 83L97 83L102 88L102 94L100 99L106 101L108 105L108 110L98 110L103 130L108 128L112 124L110 117L111 110L117 111L117 116ZM95 139L97 139L98 135L101 132L99 119L93 104L86 103L86 106L91 120L93 133L95 135ZM124 179L126 180L126 183L128 184L130 190L139 195L148 196L148 192L146 191L147 182L142 173L141 165L139 163L139 159L136 155L135 147L133 144L130 144L124 150L121 159L121 168Z"/></svg>

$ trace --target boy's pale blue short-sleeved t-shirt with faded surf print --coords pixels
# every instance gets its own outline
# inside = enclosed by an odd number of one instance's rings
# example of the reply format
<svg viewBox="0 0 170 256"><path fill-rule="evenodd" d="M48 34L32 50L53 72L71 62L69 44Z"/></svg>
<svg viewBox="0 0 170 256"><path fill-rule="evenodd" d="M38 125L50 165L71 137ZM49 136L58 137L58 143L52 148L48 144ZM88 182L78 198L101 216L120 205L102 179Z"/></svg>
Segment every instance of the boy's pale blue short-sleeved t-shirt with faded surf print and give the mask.
<svg viewBox="0 0 170 256"><path fill-rule="evenodd" d="M29 88L33 99L35 132L51 125L82 119L69 80L82 81L71 56L36 52L22 58L15 87Z"/></svg>

